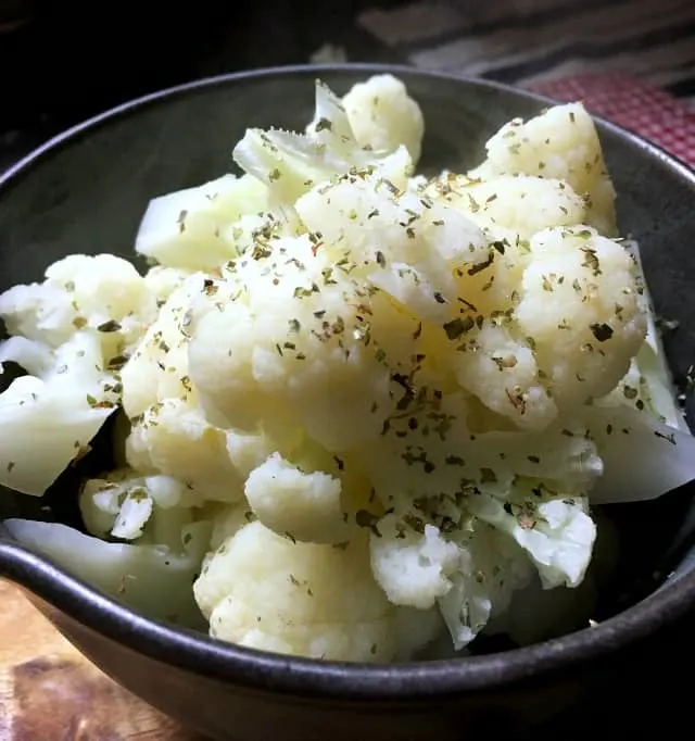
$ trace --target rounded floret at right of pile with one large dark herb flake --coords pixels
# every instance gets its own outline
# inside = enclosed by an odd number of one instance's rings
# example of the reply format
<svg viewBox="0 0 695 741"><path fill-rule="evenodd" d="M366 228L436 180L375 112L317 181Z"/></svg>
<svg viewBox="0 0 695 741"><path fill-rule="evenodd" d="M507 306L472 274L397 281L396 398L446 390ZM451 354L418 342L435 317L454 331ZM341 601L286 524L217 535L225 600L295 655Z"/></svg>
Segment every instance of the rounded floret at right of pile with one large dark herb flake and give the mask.
<svg viewBox="0 0 695 741"><path fill-rule="evenodd" d="M553 401L569 411L608 393L644 341L635 266L587 227L541 231L531 251L516 319Z"/></svg>

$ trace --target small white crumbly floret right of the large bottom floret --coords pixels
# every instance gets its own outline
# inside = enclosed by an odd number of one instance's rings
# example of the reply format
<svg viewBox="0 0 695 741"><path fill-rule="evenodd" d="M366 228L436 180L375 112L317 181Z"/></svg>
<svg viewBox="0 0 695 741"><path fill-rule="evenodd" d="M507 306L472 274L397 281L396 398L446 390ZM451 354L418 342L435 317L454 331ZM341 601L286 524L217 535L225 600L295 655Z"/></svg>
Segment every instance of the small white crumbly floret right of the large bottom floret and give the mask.
<svg viewBox="0 0 695 741"><path fill-rule="evenodd" d="M390 602L427 610L451 589L451 576L459 568L458 547L433 525L426 525L422 535L397 525L396 515L379 520L379 535L369 540L371 570Z"/></svg>

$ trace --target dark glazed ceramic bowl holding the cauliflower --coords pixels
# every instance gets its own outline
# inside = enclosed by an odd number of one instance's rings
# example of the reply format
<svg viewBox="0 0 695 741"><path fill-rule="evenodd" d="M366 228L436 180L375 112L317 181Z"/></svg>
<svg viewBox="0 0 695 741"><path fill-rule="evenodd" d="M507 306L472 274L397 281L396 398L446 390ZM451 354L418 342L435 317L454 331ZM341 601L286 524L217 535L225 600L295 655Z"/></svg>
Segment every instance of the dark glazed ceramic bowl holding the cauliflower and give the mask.
<svg viewBox="0 0 695 741"><path fill-rule="evenodd" d="M377 72L400 76L422 106L429 171L475 164L498 126L547 105L489 83L375 65L253 72L149 96L53 139L0 179L0 289L38 279L70 252L130 255L150 198L228 169L230 148L248 126L302 127L315 77L342 93ZM657 311L680 322L668 351L682 377L695 348L695 176L635 136L605 123L599 133L622 230L640 240ZM67 493L54 512L70 522ZM217 739L521 738L553 723L561 724L561 738L579 738L598 712L620 716L623 731L630 717L643 730L649 718L664 724L657 716L666 709L650 712L655 698L672 707L684 687L668 677L671 663L695 657L687 625L695 619L692 495L683 489L608 511L621 556L597 627L451 661L348 665L225 645L135 614L13 542L1 523L0 575L21 585L106 674ZM42 513L33 498L0 492L0 518L10 516ZM659 677L662 694L647 671Z"/></svg>

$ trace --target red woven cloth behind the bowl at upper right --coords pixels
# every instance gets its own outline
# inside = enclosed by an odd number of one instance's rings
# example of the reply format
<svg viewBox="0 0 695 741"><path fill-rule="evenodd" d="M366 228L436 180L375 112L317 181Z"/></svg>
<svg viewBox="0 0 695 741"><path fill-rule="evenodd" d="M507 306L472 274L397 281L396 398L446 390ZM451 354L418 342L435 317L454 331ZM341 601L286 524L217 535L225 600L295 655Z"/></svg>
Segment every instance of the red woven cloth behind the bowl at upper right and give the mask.
<svg viewBox="0 0 695 741"><path fill-rule="evenodd" d="M624 73L536 83L535 92L586 110L660 145L695 167L695 106Z"/></svg>

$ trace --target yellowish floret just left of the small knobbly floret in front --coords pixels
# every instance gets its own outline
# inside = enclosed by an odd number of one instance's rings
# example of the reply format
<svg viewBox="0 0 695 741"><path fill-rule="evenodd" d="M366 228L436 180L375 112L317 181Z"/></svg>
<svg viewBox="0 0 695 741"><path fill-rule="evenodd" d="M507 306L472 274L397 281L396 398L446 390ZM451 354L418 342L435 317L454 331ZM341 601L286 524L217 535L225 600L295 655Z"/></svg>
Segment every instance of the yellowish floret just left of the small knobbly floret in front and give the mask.
<svg viewBox="0 0 695 741"><path fill-rule="evenodd" d="M166 399L144 412L126 440L126 456L136 470L173 476L203 499L235 502L243 495L225 431L180 399Z"/></svg>

